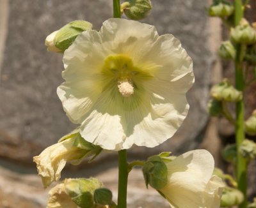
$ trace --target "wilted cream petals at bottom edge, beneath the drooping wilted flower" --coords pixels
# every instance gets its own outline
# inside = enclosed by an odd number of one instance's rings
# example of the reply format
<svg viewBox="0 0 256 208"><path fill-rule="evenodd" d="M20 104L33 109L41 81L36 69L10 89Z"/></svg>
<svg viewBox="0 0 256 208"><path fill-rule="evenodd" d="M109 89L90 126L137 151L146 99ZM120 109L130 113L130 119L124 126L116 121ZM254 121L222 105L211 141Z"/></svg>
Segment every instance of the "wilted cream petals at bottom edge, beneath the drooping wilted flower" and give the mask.
<svg viewBox="0 0 256 208"><path fill-rule="evenodd" d="M49 191L49 200L46 208L77 208L77 205L65 192L65 185L58 184Z"/></svg>

